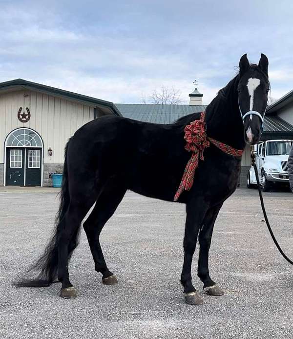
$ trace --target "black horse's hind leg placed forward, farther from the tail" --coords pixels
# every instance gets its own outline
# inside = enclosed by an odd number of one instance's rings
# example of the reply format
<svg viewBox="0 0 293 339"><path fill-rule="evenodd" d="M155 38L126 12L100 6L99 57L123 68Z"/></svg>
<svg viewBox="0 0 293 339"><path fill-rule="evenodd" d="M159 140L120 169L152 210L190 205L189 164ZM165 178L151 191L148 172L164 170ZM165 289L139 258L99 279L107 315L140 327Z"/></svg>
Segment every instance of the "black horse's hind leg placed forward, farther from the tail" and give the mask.
<svg viewBox="0 0 293 339"><path fill-rule="evenodd" d="M115 183L117 183L117 185L115 185ZM100 244L100 234L105 223L112 217L125 193L126 188L118 182L112 181L111 184L106 185L97 199L91 214L84 221L84 231L95 262L95 270L102 273L102 280L107 285L116 284L117 279L107 268Z"/></svg>

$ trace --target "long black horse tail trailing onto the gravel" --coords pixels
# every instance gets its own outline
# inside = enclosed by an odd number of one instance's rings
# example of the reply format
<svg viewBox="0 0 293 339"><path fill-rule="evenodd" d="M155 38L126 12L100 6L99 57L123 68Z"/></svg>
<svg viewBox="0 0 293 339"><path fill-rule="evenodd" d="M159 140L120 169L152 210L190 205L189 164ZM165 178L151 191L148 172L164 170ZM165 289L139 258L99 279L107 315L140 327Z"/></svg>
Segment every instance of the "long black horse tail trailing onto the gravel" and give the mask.
<svg viewBox="0 0 293 339"><path fill-rule="evenodd" d="M19 278L14 281L14 285L22 287L42 287L49 286L57 277L58 270L58 234L62 225L62 220L68 209L70 196L68 189L68 172L67 172L67 149L70 140L65 146L63 182L60 196L59 211L55 219L55 229L50 242L40 259L34 263L26 272L25 278ZM76 232L69 244L68 259L70 259L74 248L77 246L79 231Z"/></svg>

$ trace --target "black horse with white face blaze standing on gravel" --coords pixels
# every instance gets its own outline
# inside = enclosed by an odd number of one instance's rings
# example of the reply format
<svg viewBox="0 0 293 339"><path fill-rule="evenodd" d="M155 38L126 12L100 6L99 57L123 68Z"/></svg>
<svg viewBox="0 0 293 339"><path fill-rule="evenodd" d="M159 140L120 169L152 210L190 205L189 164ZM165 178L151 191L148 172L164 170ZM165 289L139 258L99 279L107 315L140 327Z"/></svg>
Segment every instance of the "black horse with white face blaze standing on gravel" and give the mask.
<svg viewBox="0 0 293 339"><path fill-rule="evenodd" d="M207 135L243 150L261 136L269 91L268 59L261 55L250 64L246 54L240 59L239 74L221 89L206 109ZM107 268L99 236L113 215L126 190L147 197L173 201L190 153L185 150L184 128L200 114L190 114L168 125L107 116L90 121L75 132L65 148L61 203L53 238L43 256L28 271L32 279L21 279L18 286L48 286L56 278L62 282L61 296L75 298L67 264L78 244L84 222L95 269L105 284L117 283ZM199 161L194 183L179 202L186 204L184 264L181 283L185 299L201 304L191 283L191 261L197 239L200 253L198 276L210 295L222 289L209 276L209 246L213 226L223 202L235 191L241 157L224 153L210 145ZM31 277L31 276L30 276Z"/></svg>

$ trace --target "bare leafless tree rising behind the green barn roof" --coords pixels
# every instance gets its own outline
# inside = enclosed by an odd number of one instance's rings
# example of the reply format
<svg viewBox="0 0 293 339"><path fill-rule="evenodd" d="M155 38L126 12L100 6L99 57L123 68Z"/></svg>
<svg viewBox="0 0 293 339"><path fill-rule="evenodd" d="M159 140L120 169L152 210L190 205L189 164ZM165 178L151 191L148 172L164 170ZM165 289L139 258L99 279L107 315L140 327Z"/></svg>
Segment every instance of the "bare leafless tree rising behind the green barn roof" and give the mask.
<svg viewBox="0 0 293 339"><path fill-rule="evenodd" d="M162 85L160 90L157 90L156 88L153 90L152 94L148 96L148 100L146 100L146 96L143 94L141 102L145 104L153 103L157 105L177 105L183 101L180 96L180 90L176 90L173 86L166 87Z"/></svg>

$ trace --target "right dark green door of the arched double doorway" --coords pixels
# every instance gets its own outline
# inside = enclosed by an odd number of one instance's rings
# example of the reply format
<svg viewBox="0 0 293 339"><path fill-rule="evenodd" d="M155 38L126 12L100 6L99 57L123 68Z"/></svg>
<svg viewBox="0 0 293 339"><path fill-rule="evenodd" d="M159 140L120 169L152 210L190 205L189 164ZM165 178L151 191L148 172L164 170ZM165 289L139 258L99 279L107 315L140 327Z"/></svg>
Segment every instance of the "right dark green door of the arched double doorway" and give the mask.
<svg viewBox="0 0 293 339"><path fill-rule="evenodd" d="M41 186L42 148L26 148L25 153L25 186Z"/></svg>

